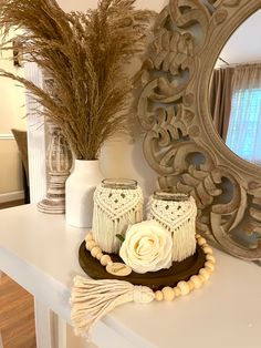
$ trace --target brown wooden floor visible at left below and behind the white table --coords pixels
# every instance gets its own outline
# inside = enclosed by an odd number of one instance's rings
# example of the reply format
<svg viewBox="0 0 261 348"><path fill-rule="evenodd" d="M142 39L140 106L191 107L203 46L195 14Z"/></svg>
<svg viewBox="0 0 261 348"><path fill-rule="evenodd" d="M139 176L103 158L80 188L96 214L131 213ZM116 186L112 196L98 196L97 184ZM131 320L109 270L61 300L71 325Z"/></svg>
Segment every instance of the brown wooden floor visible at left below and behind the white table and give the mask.
<svg viewBox="0 0 261 348"><path fill-rule="evenodd" d="M22 203L0 204L0 208ZM0 279L0 332L3 348L36 347L33 297L4 274Z"/></svg>

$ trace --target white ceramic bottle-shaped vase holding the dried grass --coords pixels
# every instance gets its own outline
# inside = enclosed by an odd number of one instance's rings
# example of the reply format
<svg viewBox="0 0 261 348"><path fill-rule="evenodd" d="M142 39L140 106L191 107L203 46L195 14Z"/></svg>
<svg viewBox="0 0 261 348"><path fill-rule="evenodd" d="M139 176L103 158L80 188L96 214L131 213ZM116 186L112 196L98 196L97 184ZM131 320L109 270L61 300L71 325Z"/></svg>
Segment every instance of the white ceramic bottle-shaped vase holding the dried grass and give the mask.
<svg viewBox="0 0 261 348"><path fill-rule="evenodd" d="M75 160L65 183L65 218L75 227L92 226L93 193L104 177L98 160Z"/></svg>

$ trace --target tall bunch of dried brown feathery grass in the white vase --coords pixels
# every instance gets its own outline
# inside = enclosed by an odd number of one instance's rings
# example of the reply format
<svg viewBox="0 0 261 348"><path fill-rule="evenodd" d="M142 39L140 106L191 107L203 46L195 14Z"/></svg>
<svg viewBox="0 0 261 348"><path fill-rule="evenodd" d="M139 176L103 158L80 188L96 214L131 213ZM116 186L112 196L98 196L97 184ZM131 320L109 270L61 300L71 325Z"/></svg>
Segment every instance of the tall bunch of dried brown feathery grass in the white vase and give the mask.
<svg viewBox="0 0 261 348"><path fill-rule="evenodd" d="M97 158L104 141L126 130L133 83L125 64L143 51L152 18L134 3L100 0L96 10L65 13L55 0L0 0L2 49L12 49L13 27L23 29L23 58L53 79L54 92L3 70L0 75L31 92L79 160Z"/></svg>

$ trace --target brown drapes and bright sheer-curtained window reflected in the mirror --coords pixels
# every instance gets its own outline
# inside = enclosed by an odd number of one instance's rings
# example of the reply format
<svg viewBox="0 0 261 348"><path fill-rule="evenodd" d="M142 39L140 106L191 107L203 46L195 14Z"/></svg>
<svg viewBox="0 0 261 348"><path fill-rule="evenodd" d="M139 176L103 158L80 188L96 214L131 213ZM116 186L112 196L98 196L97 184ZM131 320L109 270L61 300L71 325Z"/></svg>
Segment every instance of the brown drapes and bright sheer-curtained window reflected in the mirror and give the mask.
<svg viewBox="0 0 261 348"><path fill-rule="evenodd" d="M240 157L261 165L261 64L216 70L210 108L226 144Z"/></svg>

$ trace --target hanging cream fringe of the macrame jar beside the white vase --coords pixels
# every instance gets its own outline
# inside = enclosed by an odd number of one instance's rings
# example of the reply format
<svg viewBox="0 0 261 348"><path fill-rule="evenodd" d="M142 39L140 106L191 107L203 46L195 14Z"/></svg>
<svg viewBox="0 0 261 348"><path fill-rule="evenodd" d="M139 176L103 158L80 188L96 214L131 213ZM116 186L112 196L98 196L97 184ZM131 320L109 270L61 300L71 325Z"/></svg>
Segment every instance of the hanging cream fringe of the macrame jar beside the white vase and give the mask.
<svg viewBox="0 0 261 348"><path fill-rule="evenodd" d="M112 219L106 212L97 204L93 211L93 236L103 252L117 254L121 247L121 242L116 234L123 235L127 231L128 225L142 222L142 205L129 209L122 216Z"/></svg>

